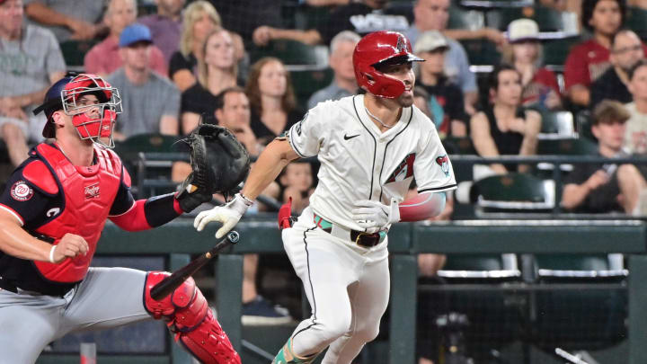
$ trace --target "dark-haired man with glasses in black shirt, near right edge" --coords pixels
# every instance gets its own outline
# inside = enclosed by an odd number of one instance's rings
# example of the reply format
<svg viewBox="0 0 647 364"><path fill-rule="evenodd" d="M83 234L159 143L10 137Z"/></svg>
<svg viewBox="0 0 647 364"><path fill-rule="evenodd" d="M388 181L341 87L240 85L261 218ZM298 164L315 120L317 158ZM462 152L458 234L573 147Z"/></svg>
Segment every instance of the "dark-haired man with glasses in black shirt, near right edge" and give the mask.
<svg viewBox="0 0 647 364"><path fill-rule="evenodd" d="M632 95L627 88L627 73L645 56L643 42L634 31L618 31L611 41L611 66L591 84L590 108L593 109L602 100L616 100L622 103L631 102Z"/></svg>

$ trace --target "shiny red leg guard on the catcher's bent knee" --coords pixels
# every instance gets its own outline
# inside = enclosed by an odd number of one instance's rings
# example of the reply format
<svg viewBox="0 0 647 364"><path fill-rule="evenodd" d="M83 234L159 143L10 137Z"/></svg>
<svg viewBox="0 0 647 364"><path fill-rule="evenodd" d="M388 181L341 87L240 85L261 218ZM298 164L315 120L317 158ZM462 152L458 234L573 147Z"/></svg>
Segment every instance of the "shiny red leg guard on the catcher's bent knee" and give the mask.
<svg viewBox="0 0 647 364"><path fill-rule="evenodd" d="M155 284L170 276L165 271L149 271L144 289L144 306L155 319L167 321L175 341L205 364L241 364L226 333L208 307L207 300L192 278L161 301L150 297Z"/></svg>

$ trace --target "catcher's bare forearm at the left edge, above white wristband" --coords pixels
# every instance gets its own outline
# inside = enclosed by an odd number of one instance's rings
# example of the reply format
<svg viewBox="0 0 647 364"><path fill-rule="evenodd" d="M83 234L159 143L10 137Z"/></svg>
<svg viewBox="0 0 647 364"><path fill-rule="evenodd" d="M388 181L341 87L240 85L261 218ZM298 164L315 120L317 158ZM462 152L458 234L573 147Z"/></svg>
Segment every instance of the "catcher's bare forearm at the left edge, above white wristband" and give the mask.
<svg viewBox="0 0 647 364"><path fill-rule="evenodd" d="M52 245L39 240L13 222L0 221L0 250L16 258L49 262Z"/></svg>

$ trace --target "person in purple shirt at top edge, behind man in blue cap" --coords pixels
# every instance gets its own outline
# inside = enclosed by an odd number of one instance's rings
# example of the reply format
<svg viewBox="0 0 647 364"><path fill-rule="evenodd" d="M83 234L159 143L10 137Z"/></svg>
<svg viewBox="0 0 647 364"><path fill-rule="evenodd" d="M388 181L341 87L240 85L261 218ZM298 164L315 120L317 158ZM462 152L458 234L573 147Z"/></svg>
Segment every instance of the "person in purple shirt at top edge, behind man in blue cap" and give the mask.
<svg viewBox="0 0 647 364"><path fill-rule="evenodd" d="M153 44L162 50L167 65L171 62L173 53L180 47L184 3L186 0L155 0L157 13L137 19L137 22L150 29Z"/></svg>

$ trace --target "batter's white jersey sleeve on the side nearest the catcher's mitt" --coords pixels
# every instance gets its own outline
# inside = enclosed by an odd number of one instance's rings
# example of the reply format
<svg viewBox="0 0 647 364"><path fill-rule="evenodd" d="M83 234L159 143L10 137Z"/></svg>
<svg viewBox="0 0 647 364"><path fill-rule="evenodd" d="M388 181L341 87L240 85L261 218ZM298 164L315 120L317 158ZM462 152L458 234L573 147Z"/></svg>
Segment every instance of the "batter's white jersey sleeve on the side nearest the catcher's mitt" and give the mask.
<svg viewBox="0 0 647 364"><path fill-rule="evenodd" d="M324 104L317 105L288 130L288 142L302 158L319 154L324 130L321 118L321 115L325 115L323 109Z"/></svg>

